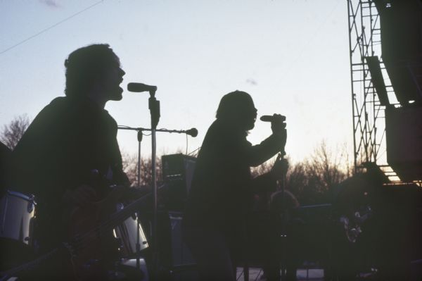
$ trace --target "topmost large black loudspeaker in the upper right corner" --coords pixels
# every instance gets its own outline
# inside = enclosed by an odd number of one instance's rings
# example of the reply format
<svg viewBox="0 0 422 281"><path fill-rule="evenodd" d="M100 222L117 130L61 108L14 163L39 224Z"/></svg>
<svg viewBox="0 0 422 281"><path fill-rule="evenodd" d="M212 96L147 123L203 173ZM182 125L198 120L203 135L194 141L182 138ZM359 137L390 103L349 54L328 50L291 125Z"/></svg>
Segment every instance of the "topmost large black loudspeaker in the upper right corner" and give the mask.
<svg viewBox="0 0 422 281"><path fill-rule="evenodd" d="M381 17L383 62L403 106L422 101L422 4L374 0Z"/></svg>

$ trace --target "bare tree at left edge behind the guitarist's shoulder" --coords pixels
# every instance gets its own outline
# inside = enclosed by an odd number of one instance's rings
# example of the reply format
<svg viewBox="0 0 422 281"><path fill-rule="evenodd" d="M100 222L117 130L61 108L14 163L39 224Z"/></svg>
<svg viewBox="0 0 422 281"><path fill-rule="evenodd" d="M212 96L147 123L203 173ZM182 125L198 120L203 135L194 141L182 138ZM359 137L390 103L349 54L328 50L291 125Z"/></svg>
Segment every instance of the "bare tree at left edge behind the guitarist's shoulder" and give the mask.
<svg viewBox="0 0 422 281"><path fill-rule="evenodd" d="M29 125L30 118L26 114L15 117L11 123L4 125L0 133L0 141L13 150Z"/></svg>

